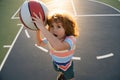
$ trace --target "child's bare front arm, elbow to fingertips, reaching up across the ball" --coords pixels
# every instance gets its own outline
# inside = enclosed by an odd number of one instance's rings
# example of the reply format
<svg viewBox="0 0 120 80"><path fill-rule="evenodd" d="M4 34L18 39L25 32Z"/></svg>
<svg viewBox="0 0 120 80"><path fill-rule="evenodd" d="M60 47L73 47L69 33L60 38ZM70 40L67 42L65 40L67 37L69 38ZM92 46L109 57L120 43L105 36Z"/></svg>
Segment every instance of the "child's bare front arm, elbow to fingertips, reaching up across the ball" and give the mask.
<svg viewBox="0 0 120 80"><path fill-rule="evenodd" d="M37 27L41 30L42 34L47 38L49 41L50 45L55 49L55 50L68 50L70 48L69 44L64 41L60 41L58 38L56 38L53 34L51 34L43 25L43 21L36 15L34 14L35 17L33 19L35 20L34 23L37 25ZM41 17L41 15L40 15Z"/></svg>

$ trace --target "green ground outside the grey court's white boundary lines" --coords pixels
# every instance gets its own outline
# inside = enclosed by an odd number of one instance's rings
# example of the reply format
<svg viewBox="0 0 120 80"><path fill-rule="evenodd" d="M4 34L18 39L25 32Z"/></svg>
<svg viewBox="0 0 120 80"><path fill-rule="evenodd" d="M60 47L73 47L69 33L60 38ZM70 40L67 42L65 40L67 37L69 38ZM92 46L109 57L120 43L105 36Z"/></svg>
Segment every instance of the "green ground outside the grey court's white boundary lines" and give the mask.
<svg viewBox="0 0 120 80"><path fill-rule="evenodd" d="M25 0L0 0L0 64L20 29L20 26L17 25L20 24L19 19L11 19L11 17L18 17L18 14L14 14L24 1ZM104 2L120 10L120 0L97 1Z"/></svg>

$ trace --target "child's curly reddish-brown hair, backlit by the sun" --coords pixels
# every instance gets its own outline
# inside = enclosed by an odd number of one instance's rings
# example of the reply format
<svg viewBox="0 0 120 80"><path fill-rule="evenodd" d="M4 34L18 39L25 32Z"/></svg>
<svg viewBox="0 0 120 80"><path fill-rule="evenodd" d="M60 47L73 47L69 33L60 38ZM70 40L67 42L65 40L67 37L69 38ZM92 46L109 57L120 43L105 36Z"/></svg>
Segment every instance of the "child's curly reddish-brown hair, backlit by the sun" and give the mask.
<svg viewBox="0 0 120 80"><path fill-rule="evenodd" d="M52 15L49 15L47 19L48 30L50 30L52 22L62 23L66 36L79 36L78 26L72 15L67 13L54 13Z"/></svg>

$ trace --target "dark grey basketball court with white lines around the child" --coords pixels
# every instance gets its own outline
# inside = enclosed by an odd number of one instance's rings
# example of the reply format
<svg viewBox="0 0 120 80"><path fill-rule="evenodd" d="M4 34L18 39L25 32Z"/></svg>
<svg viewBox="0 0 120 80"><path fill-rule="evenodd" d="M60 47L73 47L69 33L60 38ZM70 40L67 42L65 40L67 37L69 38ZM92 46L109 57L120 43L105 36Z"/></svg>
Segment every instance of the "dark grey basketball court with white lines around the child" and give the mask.
<svg viewBox="0 0 120 80"><path fill-rule="evenodd" d="M59 4L57 4L59 3ZM74 60L75 80L120 80L120 11L95 0L45 2L52 11L71 12L80 28ZM18 10L11 16L18 20ZM0 66L0 80L56 80L47 47L36 45L35 31L20 27ZM16 27L15 26L15 27Z"/></svg>

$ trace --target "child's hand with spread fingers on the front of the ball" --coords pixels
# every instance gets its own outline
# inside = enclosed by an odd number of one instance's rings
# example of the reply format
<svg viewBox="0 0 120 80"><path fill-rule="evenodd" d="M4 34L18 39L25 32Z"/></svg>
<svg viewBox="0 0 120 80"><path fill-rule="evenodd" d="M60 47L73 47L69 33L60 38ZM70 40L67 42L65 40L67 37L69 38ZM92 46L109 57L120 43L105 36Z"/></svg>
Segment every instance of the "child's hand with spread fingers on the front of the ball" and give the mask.
<svg viewBox="0 0 120 80"><path fill-rule="evenodd" d="M32 17L33 22L36 24L36 26L40 29L41 27L44 27L44 22L42 20L42 16L39 13L39 15L37 15L36 13L33 13L33 15L35 17ZM40 16L40 17L39 17Z"/></svg>

